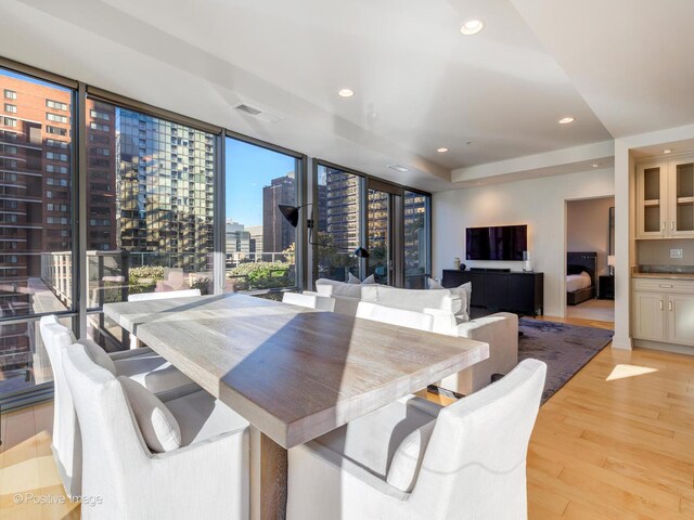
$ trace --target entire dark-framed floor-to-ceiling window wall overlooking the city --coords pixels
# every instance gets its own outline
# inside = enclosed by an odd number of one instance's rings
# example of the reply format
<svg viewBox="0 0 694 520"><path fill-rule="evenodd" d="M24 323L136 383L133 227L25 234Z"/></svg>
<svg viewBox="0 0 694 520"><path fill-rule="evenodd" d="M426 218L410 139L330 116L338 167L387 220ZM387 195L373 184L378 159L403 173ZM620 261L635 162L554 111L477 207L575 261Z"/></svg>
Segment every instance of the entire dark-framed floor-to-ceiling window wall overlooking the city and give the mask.
<svg viewBox="0 0 694 520"><path fill-rule="evenodd" d="M380 266L382 246L398 261L396 275L381 282L400 284L401 214L409 214L402 187L390 185L399 190L396 204L394 192L377 187L390 194L385 214L377 197L368 202L374 178L319 166L308 194L301 154L17 68L36 77L0 69L0 401L50 391L40 315L62 314L76 333L87 324L88 336L116 349L125 338L101 309L134 292L223 287L277 297L299 288L310 269L342 281L364 276ZM78 96L78 87L88 95ZM305 198L313 204L298 209L294 226L279 206ZM412 237L404 245L410 266L429 272L428 236ZM314 261L306 265L309 238ZM357 258L358 248L371 249L371 260Z"/></svg>

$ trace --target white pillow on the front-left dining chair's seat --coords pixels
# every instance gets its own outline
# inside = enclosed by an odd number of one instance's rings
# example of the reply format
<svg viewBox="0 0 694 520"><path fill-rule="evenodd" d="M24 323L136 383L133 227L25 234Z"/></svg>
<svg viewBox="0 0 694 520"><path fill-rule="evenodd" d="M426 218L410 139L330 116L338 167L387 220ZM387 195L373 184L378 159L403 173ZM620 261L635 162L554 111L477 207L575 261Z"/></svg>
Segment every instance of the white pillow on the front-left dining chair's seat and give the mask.
<svg viewBox="0 0 694 520"><path fill-rule="evenodd" d="M181 447L181 427L169 408L151 391L129 377L120 376L118 381L150 450L165 453Z"/></svg>

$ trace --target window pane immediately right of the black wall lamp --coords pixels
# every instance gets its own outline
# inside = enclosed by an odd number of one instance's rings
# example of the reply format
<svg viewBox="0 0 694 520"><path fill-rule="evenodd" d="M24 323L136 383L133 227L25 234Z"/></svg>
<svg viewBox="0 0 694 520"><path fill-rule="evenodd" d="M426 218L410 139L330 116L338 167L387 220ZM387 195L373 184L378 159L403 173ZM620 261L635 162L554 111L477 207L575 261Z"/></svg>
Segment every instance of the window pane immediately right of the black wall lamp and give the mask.
<svg viewBox="0 0 694 520"><path fill-rule="evenodd" d="M318 166L313 211L318 278L345 282L350 272L359 276L359 258L354 253L362 247L362 186L363 179L359 176Z"/></svg>

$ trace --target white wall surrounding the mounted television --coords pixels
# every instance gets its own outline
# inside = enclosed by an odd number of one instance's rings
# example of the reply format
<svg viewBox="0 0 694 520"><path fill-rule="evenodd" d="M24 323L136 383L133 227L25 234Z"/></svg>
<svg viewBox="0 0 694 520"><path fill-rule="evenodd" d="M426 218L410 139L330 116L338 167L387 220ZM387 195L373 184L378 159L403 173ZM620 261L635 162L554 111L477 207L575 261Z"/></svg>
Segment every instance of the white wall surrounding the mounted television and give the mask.
<svg viewBox="0 0 694 520"><path fill-rule="evenodd" d="M470 266L511 268L522 262L465 260L465 227L528 224L535 270L544 273L544 313L561 316L565 299L566 200L615 193L614 170L601 169L506 184L435 193L433 270L441 276L460 257ZM474 290L474 288L473 288Z"/></svg>

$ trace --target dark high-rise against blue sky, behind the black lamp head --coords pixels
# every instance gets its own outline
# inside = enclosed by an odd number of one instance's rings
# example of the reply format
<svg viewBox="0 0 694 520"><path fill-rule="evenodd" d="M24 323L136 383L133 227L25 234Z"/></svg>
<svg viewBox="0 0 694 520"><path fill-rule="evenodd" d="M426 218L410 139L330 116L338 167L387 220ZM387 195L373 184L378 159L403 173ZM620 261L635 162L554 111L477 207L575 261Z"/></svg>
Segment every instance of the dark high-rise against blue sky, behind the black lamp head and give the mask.
<svg viewBox="0 0 694 520"><path fill-rule="evenodd" d="M262 249L264 252L282 252L296 242L296 229L282 216L278 206L296 205L294 172L272 179L262 188Z"/></svg>

